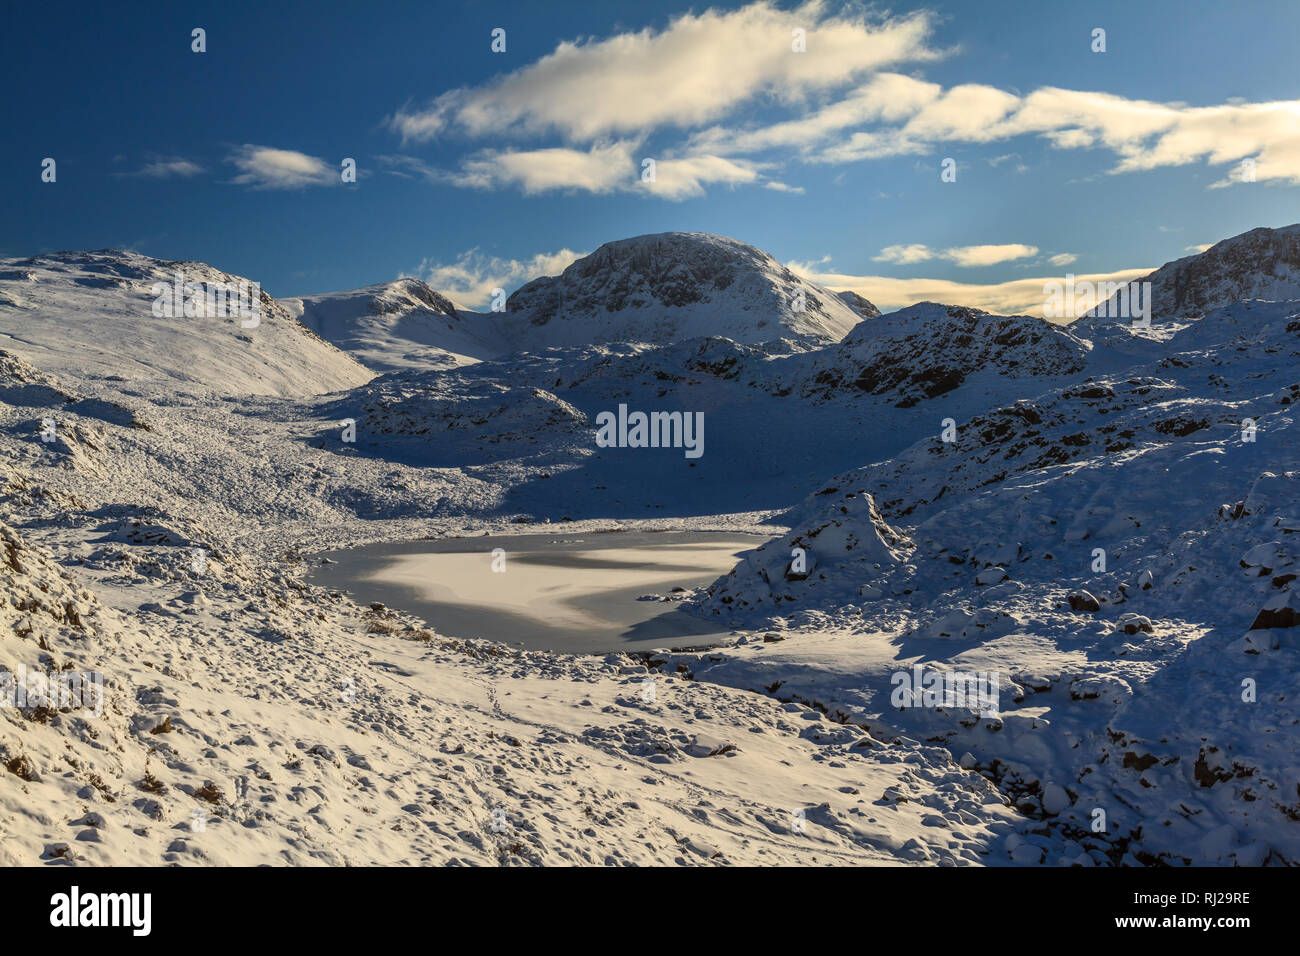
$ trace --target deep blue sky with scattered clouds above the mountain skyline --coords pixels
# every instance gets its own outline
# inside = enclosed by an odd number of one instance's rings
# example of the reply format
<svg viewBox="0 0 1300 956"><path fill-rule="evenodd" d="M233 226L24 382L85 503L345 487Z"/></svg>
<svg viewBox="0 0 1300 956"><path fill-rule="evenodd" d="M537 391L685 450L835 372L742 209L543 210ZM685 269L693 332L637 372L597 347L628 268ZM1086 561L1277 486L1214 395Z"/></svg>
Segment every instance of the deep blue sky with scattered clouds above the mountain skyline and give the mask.
<svg viewBox="0 0 1300 956"><path fill-rule="evenodd" d="M602 242L699 230L885 306L1008 311L1044 277L1150 268L1300 220L1297 4L23 4L5 18L3 256L126 247L281 297L419 274L476 306Z"/></svg>

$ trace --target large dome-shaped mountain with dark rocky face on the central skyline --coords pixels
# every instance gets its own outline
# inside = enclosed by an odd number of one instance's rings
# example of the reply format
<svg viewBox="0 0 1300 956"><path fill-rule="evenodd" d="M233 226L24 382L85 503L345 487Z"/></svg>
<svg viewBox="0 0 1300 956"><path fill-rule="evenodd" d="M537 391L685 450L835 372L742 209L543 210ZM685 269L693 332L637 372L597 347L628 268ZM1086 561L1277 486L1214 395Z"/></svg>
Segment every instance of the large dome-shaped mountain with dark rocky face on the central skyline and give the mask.
<svg viewBox="0 0 1300 956"><path fill-rule="evenodd" d="M837 342L866 315L800 278L766 252L705 233L620 239L538 278L507 300L504 326L519 349L698 336L737 342Z"/></svg>

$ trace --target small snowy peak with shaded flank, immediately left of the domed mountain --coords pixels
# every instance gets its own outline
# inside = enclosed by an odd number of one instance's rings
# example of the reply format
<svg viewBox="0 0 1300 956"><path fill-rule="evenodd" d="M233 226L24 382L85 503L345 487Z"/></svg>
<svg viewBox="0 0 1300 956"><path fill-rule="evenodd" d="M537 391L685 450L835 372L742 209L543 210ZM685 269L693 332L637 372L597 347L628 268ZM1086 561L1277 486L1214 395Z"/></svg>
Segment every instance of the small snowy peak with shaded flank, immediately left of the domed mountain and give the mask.
<svg viewBox="0 0 1300 956"><path fill-rule="evenodd" d="M303 325L367 368L450 368L504 350L493 315L459 311L419 278L281 299Z"/></svg>

